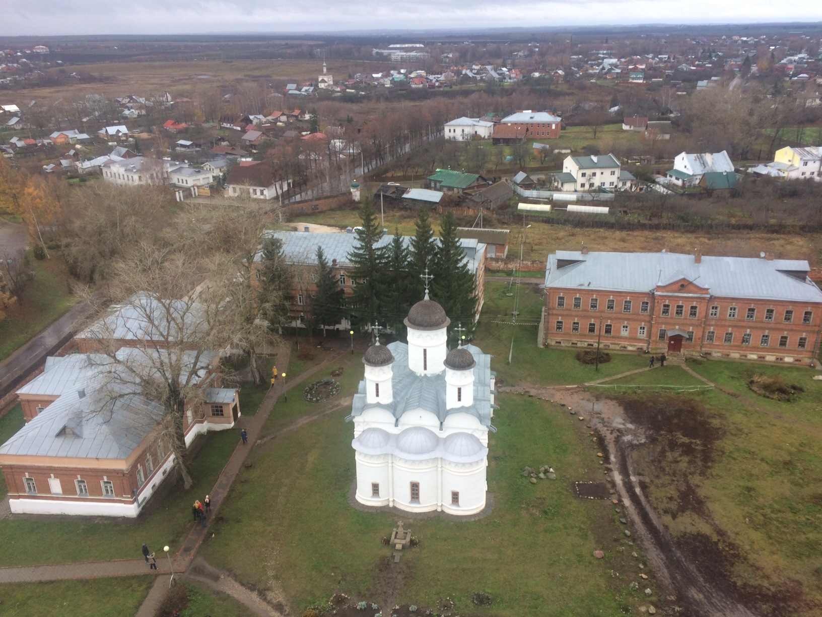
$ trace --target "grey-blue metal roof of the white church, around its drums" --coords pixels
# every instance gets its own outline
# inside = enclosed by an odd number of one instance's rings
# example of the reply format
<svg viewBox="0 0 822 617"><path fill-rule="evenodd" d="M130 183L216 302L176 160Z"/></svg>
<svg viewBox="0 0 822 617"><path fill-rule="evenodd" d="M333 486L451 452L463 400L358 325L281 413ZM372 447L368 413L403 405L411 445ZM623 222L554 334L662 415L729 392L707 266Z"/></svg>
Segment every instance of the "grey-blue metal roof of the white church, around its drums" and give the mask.
<svg viewBox="0 0 822 617"><path fill-rule="evenodd" d="M387 345L394 355L394 364L391 370L391 387L394 401L388 405L370 404L366 402L365 381L359 383L357 394L353 397L351 414L356 416L363 413L366 407L381 407L390 411L399 420L406 411L424 409L431 411L440 422L446 420L450 414L459 412L475 416L481 424L491 425L491 356L473 345L464 346L473 355L477 363L473 367L473 406L446 409L446 378L445 369L436 375L420 376L409 369L408 345L395 341Z"/></svg>

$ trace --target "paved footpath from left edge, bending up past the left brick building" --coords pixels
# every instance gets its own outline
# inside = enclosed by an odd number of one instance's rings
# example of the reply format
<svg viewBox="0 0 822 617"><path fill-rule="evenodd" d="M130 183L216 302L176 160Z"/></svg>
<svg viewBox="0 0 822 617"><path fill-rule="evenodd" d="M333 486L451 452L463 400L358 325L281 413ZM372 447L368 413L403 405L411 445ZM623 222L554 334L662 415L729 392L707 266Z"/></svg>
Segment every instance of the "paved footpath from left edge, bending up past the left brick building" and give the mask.
<svg viewBox="0 0 822 617"><path fill-rule="evenodd" d="M281 366L287 366L289 360L290 348L279 352L278 362ZM297 378L288 382L285 387L282 386L282 381L276 387L272 387L266 398L263 399L260 409L256 415L241 415L239 419L240 427L247 430L248 443L243 445L242 441L238 443L237 448L234 449L229 462L220 473L217 483L211 489L211 516L210 521L214 520L216 514L219 512L219 507L223 503L226 494L229 493L234 479L237 477L238 471L242 468L248 452L257 441L263 424L266 423L271 410L274 409L275 403L279 395L283 392L288 392L293 387L297 387L307 378L326 369L330 364L339 360L340 357L349 353L349 350L335 351L326 360L308 369L306 372L300 374ZM175 573L182 573L191 564L197 548L201 545L208 533L208 527L201 527L199 523L192 525L186 540L182 543L182 548L178 554L172 557L172 564ZM105 577L122 577L135 576L141 574L168 574L169 559L162 555L160 559L161 547L150 547L151 550L157 550L157 570L150 570L145 564L145 559L116 559L113 561L90 561L77 564L48 564L48 565L34 565L34 566L18 566L12 568L0 568L0 583L2 582L41 582L41 581L58 581L74 578L105 578Z"/></svg>

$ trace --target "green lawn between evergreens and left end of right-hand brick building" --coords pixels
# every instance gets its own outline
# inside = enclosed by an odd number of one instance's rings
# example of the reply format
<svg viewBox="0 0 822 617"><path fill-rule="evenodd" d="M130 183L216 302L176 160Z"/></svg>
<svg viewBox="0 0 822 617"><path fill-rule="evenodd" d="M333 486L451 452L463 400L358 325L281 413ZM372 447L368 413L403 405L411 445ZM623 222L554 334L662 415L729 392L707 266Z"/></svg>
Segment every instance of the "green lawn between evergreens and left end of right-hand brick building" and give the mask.
<svg viewBox="0 0 822 617"><path fill-rule="evenodd" d="M496 323L510 322L517 299L515 292L515 286L509 290L509 281L486 280L485 305L473 340L485 353L494 355L492 367L504 385L583 383L647 366L648 359L644 355L615 353L611 362L599 365L597 372L593 365L576 360L576 350L538 348L538 326ZM508 296L508 293L514 295ZM537 285L521 285L518 321L538 322L542 306L543 291ZM512 332L514 350L508 364Z"/></svg>

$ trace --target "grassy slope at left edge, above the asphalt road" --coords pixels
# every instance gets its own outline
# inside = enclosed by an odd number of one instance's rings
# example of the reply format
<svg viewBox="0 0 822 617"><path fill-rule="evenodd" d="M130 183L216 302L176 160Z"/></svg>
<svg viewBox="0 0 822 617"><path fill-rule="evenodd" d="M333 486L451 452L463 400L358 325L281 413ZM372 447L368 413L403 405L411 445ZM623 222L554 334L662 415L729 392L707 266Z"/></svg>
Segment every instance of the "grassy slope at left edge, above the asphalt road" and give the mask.
<svg viewBox="0 0 822 617"><path fill-rule="evenodd" d="M66 263L58 254L42 261L31 254L29 257L35 280L17 299L17 307L0 321L0 360L11 355L77 301L68 288Z"/></svg>

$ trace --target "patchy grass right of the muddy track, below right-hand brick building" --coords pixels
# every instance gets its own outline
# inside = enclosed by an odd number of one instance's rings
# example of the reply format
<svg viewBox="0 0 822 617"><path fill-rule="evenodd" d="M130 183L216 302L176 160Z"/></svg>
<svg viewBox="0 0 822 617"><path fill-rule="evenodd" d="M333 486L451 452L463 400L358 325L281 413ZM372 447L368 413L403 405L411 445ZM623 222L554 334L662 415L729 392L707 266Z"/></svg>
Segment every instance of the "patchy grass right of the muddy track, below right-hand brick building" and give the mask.
<svg viewBox="0 0 822 617"><path fill-rule="evenodd" d="M635 462L648 478L654 508L678 540L707 539L708 550L700 552L706 563L719 554L738 585L760 586L755 597L775 606L772 614L819 615L822 384L811 379L816 371L719 360L689 365L738 398L718 390L680 395L704 405L699 424L711 429L700 438L675 435L672 443L681 447L661 448L653 440L636 447ZM668 383L677 379L673 370L680 370L670 369L625 381ZM747 387L757 373L780 374L805 392L793 402L759 397ZM653 401L658 393L633 396ZM687 450L690 455L680 456ZM780 604L800 597L797 605Z"/></svg>

